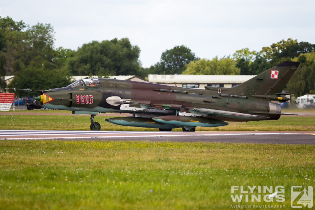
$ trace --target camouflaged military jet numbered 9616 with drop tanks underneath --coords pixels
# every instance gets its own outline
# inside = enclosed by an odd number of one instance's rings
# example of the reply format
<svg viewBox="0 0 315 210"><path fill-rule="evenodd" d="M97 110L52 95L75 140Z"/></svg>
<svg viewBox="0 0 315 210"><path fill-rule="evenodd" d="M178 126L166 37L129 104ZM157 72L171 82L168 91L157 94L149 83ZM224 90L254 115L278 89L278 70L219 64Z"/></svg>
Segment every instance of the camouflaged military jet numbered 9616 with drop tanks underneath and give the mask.
<svg viewBox="0 0 315 210"><path fill-rule="evenodd" d="M232 88L181 88L148 82L107 78L81 79L67 87L41 91L35 97L49 109L91 115L90 129L100 130L95 115L127 112L132 116L106 119L123 126L195 131L196 126L216 127L228 122L278 120L279 103L290 100L281 93L300 63L284 61ZM30 89L26 89L31 91Z"/></svg>

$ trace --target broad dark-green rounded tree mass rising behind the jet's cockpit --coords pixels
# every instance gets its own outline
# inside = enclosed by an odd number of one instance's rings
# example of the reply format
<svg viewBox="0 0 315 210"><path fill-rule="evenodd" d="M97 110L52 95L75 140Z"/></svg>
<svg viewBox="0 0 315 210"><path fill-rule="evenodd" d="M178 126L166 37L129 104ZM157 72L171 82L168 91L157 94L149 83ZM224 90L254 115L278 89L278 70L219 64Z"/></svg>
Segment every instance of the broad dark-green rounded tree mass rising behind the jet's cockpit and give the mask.
<svg viewBox="0 0 315 210"><path fill-rule="evenodd" d="M128 38L83 44L67 61L72 75L137 75L140 48Z"/></svg>

